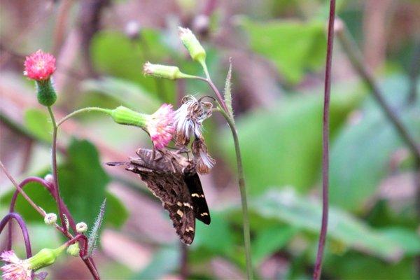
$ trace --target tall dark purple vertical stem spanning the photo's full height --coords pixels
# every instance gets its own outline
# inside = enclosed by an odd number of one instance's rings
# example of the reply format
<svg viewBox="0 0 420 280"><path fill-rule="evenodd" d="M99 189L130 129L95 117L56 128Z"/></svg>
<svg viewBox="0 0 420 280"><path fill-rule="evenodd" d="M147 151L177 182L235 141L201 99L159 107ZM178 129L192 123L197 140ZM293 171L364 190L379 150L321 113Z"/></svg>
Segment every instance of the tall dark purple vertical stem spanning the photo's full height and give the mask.
<svg viewBox="0 0 420 280"><path fill-rule="evenodd" d="M332 46L334 43L335 0L330 0L330 19L328 22L327 58L325 62L325 85L323 105L323 128L322 128L322 220L321 232L318 241L318 253L314 267L313 279L321 277L323 251L328 230L328 188L329 188L329 146L330 146L330 92L331 92L331 66Z"/></svg>

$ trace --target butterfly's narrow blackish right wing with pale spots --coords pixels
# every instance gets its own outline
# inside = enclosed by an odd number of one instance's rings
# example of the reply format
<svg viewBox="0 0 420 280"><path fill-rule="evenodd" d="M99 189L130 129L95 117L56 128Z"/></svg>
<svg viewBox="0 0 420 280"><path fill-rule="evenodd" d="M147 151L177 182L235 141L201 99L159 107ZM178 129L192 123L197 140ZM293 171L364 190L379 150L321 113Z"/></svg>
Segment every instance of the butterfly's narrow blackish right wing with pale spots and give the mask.
<svg viewBox="0 0 420 280"><path fill-rule="evenodd" d="M195 218L202 221L206 225L210 224L210 212L207 206L206 197L204 196L200 177L197 173L186 174L184 181L190 191L191 200L193 200L193 207Z"/></svg>

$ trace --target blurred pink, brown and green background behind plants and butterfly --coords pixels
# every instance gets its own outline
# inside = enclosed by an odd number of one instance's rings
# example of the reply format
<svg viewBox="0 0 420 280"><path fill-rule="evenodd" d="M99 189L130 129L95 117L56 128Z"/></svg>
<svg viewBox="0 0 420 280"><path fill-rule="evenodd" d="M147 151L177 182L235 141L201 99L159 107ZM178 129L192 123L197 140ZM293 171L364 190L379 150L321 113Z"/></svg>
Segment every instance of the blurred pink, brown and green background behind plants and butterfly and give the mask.
<svg viewBox="0 0 420 280"><path fill-rule="evenodd" d="M233 108L244 158L258 279L310 279L321 221L321 120L329 1L1 0L0 158L16 179L50 172L51 125L22 75L38 49L57 57L58 118L85 106L152 113L186 94L211 95L194 80L144 77L144 62L202 75L181 45L189 27L223 90L232 57ZM420 141L420 2L337 1L342 19L388 104ZM414 157L372 99L339 39L332 75L330 223L324 279L419 279L420 197ZM243 279L245 258L232 136L217 113L204 123L211 174L201 176L211 225L182 246L167 212L135 174L104 162L150 147L147 134L100 113L59 131L59 180L76 222L92 226L107 198L94 255L103 279ZM416 187L417 184L417 187ZM416 190L416 188L419 188ZM13 186L0 174L0 214ZM27 186L45 211L48 193ZM416 202L417 197L417 202ZM417 210L416 210L417 209ZM25 201L33 251L62 242ZM0 251L5 246L0 237ZM15 230L14 248L24 248ZM50 279L90 279L67 255Z"/></svg>

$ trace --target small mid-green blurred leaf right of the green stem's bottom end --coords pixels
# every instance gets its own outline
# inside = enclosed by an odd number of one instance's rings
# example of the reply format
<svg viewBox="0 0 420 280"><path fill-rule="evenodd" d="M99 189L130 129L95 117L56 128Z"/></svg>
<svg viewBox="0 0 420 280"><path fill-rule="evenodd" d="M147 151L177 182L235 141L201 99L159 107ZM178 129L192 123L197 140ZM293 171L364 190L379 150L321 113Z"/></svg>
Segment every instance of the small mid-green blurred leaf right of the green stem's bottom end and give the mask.
<svg viewBox="0 0 420 280"><path fill-rule="evenodd" d="M290 225L272 225L258 232L253 241L253 262L259 264L272 253L279 251L298 231Z"/></svg>

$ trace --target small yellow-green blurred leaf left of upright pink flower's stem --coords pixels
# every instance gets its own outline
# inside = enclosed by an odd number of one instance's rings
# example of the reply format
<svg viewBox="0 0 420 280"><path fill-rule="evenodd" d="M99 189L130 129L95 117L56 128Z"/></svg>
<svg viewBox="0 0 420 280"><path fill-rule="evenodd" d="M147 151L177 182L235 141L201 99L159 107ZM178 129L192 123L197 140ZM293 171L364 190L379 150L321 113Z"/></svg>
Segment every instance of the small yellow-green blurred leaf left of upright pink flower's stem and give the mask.
<svg viewBox="0 0 420 280"><path fill-rule="evenodd" d="M25 111L25 127L36 139L51 142L52 123L48 113L39 109Z"/></svg>

